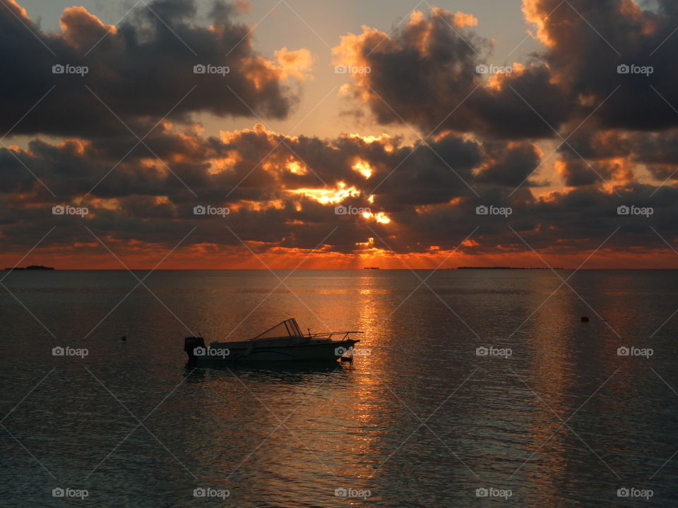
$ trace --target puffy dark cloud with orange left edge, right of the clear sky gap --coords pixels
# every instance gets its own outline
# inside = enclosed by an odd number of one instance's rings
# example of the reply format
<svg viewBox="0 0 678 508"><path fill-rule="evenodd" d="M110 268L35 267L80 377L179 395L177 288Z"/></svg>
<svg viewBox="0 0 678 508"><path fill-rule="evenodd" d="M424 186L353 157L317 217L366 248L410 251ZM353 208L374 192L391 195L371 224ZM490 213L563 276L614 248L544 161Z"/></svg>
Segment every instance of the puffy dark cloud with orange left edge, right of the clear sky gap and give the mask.
<svg viewBox="0 0 678 508"><path fill-rule="evenodd" d="M353 97L367 102L380 123L410 123L424 133L551 137L568 110L549 69L509 68L484 83L482 71L489 66L483 55L492 44L454 23L452 13L434 8L391 35L364 28L362 35L343 37L334 50L337 61L370 69L354 75Z"/></svg>

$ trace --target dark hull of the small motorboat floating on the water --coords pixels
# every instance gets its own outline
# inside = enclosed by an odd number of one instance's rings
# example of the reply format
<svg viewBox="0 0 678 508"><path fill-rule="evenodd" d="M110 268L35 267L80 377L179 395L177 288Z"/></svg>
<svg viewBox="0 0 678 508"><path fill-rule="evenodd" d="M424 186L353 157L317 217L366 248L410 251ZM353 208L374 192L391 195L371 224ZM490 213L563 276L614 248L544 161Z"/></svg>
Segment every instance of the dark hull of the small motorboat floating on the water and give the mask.
<svg viewBox="0 0 678 508"><path fill-rule="evenodd" d="M203 354L190 358L198 368L218 367L232 363L258 363L280 361L337 361L357 340L325 341L318 344L290 346L254 346L225 342L217 347L206 348ZM202 351L201 351L202 352Z"/></svg>

